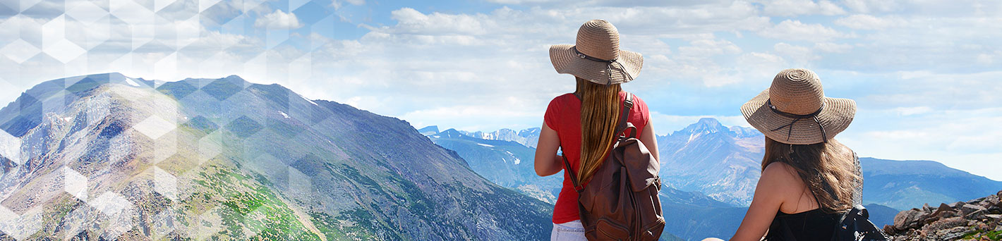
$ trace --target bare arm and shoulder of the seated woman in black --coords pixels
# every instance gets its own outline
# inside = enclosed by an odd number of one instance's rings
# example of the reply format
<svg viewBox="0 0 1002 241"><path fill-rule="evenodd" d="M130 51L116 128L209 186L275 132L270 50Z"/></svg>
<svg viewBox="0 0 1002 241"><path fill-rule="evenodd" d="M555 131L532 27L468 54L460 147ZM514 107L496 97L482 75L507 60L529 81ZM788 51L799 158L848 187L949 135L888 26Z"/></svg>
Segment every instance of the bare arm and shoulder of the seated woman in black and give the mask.
<svg viewBox="0 0 1002 241"><path fill-rule="evenodd" d="M796 185L800 179L793 176L790 167L782 162L774 162L766 167L762 172L762 178L755 189L755 196L752 199L752 206L741 220L741 226L737 227L737 232L731 241L758 241L769 230L773 224L773 219L783 206L784 200L790 193L800 195Z"/></svg>

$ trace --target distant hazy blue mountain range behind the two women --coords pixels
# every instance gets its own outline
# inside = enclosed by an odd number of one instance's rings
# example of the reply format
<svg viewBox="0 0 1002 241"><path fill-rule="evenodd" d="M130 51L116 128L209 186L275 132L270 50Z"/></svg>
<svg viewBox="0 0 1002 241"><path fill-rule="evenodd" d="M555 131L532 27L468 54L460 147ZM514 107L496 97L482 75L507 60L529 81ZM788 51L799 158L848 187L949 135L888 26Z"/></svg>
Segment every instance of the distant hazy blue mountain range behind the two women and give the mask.
<svg viewBox="0 0 1002 241"><path fill-rule="evenodd" d="M560 187L562 178L553 178L559 176L535 177L531 167L512 168L513 163L504 159L508 150L534 153L533 148L518 147L511 140L497 142L478 138L510 135L447 132L446 135L423 133L436 144L456 151L470 163L471 169L488 180L513 189L527 185ZM684 240L732 235L747 210L761 176L765 146L762 133L753 128L728 128L715 119L703 118L682 130L658 136L657 141L661 156L660 176L665 180L665 188L660 194L667 221L665 231ZM520 157L520 164L532 158L531 154ZM923 203L970 200L1002 189L1002 182L933 161L861 158L860 162L865 180L863 202L870 211L871 220L879 226L892 224L899 210ZM557 194L554 192L554 196ZM533 197L550 200L549 196Z"/></svg>

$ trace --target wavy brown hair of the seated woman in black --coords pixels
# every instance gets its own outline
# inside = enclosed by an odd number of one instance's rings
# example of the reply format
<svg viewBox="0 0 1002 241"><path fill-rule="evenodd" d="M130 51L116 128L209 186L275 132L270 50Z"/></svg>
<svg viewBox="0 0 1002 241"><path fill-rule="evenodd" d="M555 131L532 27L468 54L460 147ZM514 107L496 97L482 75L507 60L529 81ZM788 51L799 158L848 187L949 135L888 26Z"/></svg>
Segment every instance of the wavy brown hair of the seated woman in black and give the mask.
<svg viewBox="0 0 1002 241"><path fill-rule="evenodd" d="M828 143L791 145L766 137L762 169L774 162L793 167L827 213L852 208L854 192L863 183L853 150L835 139L829 139Z"/></svg>

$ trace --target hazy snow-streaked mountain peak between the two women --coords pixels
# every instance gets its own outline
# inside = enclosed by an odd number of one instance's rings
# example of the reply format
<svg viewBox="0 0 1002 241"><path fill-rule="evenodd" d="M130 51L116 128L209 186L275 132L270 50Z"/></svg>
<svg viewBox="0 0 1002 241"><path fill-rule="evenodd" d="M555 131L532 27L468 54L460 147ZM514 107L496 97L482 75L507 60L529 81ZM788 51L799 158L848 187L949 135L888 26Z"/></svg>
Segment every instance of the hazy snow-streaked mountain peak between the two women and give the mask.
<svg viewBox="0 0 1002 241"><path fill-rule="evenodd" d="M661 179L675 189L747 206L762 175L765 147L763 135L755 133L702 118L682 130L658 136Z"/></svg>

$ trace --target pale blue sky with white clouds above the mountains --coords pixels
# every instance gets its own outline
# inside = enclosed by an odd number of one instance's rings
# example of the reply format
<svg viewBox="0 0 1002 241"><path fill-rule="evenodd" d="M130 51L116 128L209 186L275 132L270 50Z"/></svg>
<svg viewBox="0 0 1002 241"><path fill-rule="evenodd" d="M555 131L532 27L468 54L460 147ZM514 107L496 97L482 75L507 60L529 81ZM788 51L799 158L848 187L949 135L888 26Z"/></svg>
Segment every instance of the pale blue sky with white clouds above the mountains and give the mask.
<svg viewBox="0 0 1002 241"><path fill-rule="evenodd" d="M623 88L658 134L738 106L785 68L859 105L861 156L930 159L1002 180L998 1L0 0L0 102L65 76L279 83L420 128L538 127L573 90L547 57L606 19L644 55Z"/></svg>

